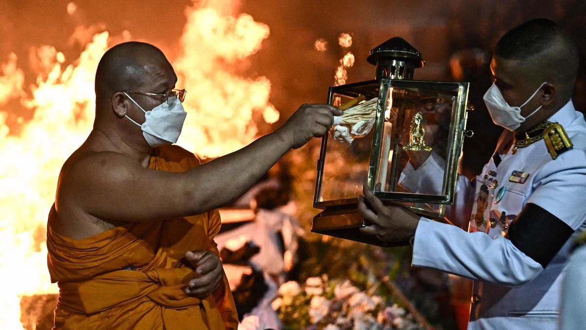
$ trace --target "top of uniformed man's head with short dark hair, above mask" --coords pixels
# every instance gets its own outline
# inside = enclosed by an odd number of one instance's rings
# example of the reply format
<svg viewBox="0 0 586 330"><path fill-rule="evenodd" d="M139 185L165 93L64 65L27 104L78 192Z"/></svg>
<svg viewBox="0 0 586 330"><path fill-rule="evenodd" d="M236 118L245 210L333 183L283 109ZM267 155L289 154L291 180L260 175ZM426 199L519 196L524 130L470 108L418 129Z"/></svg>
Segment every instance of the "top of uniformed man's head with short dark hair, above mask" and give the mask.
<svg viewBox="0 0 586 330"><path fill-rule="evenodd" d="M578 48L556 22L532 19L507 32L498 42L495 58L519 61L527 79L556 83L569 99L578 74Z"/></svg>

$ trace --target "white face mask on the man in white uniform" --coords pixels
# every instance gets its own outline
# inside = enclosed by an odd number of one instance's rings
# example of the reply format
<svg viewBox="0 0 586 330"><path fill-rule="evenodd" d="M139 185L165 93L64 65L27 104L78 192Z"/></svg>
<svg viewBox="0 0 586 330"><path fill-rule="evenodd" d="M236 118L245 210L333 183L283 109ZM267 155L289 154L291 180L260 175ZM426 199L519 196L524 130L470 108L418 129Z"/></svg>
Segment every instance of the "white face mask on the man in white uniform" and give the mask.
<svg viewBox="0 0 586 330"><path fill-rule="evenodd" d="M505 97L503 97L502 93L500 93L499 87L497 87L495 83L492 83L492 86L490 86L485 95L482 97L484 99L484 103L486 104L486 108L490 113L492 121L499 126L505 127L507 130L516 130L519 128L519 126L521 126L521 124L524 123L527 118L536 113L537 110L541 109L541 106L539 106L532 113L530 113L529 116L521 116L521 107L533 99L533 96L535 96L541 87L543 87L543 85L546 83L547 82L542 83L539 88L529 97L529 99L527 99L520 106L509 106L509 104L505 101Z"/></svg>

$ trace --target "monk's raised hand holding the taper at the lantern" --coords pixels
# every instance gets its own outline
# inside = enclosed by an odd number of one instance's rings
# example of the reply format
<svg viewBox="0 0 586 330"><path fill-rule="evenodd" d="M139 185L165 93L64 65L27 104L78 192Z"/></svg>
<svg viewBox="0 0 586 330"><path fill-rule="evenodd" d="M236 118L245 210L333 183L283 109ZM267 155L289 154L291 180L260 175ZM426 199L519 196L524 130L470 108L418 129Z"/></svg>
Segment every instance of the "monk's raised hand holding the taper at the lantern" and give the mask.
<svg viewBox="0 0 586 330"><path fill-rule="evenodd" d="M326 104L302 105L289 117L278 132L288 139L293 149L320 137L332 127L333 116L341 116L342 110Z"/></svg>

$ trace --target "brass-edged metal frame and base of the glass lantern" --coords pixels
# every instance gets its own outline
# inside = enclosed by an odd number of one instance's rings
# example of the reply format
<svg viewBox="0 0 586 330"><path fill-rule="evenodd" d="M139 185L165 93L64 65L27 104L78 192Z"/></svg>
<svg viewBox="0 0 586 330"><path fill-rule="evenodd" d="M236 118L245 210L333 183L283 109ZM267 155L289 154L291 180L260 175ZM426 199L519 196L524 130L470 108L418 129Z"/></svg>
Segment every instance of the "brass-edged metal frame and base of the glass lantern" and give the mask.
<svg viewBox="0 0 586 330"><path fill-rule="evenodd" d="M376 87L378 86L378 87ZM391 88L411 89L411 90L431 90L434 92L446 92L454 95L452 100L451 121L448 130L447 157L445 159L445 172L443 177L443 186L441 194L418 194L404 193L398 191L377 191L375 189L376 176L379 173L379 163L381 156L381 143L383 140L383 130L385 112L387 110L387 97ZM329 87L328 104L332 104L335 95L345 95L347 97L366 96L366 99L379 97L376 119L372 130L373 140L370 149L369 169L367 174L367 186L374 195L380 198L384 204L401 204L415 213L425 215L431 218L441 218L443 216L445 204L454 202L456 177L458 175L458 163L461 156L462 145L464 143L466 120L468 113L466 103L468 99L469 83L465 82L432 82L421 80L397 80L390 78L380 78L377 80L368 80L365 82L350 83L347 85ZM406 110L398 113L397 123L403 123ZM329 134L322 138L321 151L317 164L317 177L314 194L314 207L324 210L314 218L312 231L316 233L328 234L342 238L348 238L356 241L363 241L369 244L395 246L405 245L407 242L383 243L377 238L362 235L357 227L367 225L362 217L357 213L358 198L342 198L337 200L321 200L323 171L327 157L327 146ZM396 141L398 143L398 141ZM394 146L396 149L398 146ZM390 173L397 173L396 167L398 153L393 153ZM417 203L435 204L436 210L429 208L417 207Z"/></svg>

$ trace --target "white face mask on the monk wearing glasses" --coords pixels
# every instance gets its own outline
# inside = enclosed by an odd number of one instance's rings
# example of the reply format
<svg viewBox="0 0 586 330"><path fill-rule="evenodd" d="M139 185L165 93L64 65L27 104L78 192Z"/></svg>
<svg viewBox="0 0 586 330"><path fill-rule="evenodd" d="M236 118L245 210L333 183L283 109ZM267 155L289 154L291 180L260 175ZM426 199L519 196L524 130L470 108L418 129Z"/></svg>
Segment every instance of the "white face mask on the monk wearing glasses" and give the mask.
<svg viewBox="0 0 586 330"><path fill-rule="evenodd" d="M185 116L187 116L179 97L169 96L175 99L171 105L168 105L168 101L165 101L151 111L145 111L130 95L126 92L123 93L145 113L145 122L142 125L127 115L124 116L141 127L142 136L147 140L149 146L158 147L163 144L177 142L183 128L183 122L185 122Z"/></svg>

